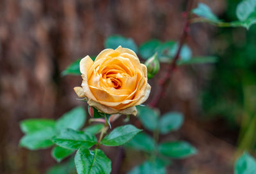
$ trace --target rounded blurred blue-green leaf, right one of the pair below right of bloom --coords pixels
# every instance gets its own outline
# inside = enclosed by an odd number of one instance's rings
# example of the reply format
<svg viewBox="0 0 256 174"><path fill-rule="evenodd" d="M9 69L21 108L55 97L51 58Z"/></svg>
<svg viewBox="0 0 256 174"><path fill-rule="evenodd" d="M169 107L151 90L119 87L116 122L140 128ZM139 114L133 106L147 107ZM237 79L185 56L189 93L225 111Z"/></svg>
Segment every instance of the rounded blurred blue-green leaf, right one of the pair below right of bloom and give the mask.
<svg viewBox="0 0 256 174"><path fill-rule="evenodd" d="M170 131L178 130L184 121L184 117L180 112L168 112L159 120L159 132L161 134L170 133Z"/></svg>

